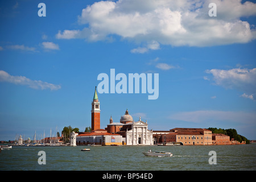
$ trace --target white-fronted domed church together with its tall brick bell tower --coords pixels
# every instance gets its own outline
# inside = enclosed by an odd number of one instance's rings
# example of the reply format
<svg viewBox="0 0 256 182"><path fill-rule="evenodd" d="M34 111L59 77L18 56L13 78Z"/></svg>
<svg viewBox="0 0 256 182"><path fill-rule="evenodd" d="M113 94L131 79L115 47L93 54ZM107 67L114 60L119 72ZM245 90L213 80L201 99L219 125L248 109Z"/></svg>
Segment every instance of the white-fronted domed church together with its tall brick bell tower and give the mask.
<svg viewBox="0 0 256 182"><path fill-rule="evenodd" d="M147 121L134 122L133 117L126 110L120 122L113 122L110 117L109 125L100 128L100 101L95 88L92 101L92 131L86 133L71 133L71 146L96 144L96 145L150 145L153 144L153 133L148 130Z"/></svg>

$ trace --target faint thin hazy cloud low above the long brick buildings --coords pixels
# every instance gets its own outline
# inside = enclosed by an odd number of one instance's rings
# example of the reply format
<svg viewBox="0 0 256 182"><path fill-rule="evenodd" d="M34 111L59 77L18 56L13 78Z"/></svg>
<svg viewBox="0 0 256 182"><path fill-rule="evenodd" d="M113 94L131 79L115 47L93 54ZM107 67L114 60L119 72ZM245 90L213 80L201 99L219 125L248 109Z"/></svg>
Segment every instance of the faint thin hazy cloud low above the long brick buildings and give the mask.
<svg viewBox="0 0 256 182"><path fill-rule="evenodd" d="M197 110L184 111L172 114L170 119L194 123L202 122L236 122L236 123L254 123L256 113L245 111L219 111L219 110Z"/></svg>

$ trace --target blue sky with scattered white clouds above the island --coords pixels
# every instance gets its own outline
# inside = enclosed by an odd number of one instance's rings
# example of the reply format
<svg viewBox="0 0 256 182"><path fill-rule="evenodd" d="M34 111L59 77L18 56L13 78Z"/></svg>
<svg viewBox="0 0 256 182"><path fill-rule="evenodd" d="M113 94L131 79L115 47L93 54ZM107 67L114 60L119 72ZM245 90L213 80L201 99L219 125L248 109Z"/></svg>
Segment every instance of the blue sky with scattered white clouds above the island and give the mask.
<svg viewBox="0 0 256 182"><path fill-rule="evenodd" d="M98 93L102 129L128 109L148 129L256 139L255 2L44 1L39 17L40 2L0 2L0 140L84 131L97 76L112 68L159 73L159 97Z"/></svg>

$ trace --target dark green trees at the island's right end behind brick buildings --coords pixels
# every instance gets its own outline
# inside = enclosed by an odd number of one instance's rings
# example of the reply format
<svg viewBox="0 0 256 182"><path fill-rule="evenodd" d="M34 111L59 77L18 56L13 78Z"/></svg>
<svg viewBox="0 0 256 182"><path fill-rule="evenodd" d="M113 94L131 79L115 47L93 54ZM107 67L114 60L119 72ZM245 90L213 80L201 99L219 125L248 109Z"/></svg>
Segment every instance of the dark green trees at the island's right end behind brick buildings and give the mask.
<svg viewBox="0 0 256 182"><path fill-rule="evenodd" d="M217 129L216 127L209 127L208 130L212 131L212 133L228 135L230 137L230 139L234 138L235 140L237 140L240 143L242 141L245 141L246 144L250 143L250 141L247 138L243 137L242 135L237 134L236 129Z"/></svg>

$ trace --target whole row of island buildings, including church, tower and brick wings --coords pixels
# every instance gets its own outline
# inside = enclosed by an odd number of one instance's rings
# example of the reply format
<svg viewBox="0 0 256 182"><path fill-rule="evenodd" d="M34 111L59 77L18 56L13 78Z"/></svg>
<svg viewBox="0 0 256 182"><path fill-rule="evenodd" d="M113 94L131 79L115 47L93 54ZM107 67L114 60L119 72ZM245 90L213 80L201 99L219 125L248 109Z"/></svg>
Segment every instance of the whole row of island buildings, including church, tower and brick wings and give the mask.
<svg viewBox="0 0 256 182"><path fill-rule="evenodd" d="M133 117L126 110L119 122L113 122L110 117L108 126L100 129L100 101L95 88L92 101L92 131L88 133L71 133L71 146L97 145L151 145L151 144L183 144L183 145L212 145L212 144L245 144L230 140L228 135L213 134L208 129L174 128L167 131L148 130L147 121L139 117L134 122ZM48 138L46 138L47 140ZM56 138L59 139L59 138Z"/></svg>

